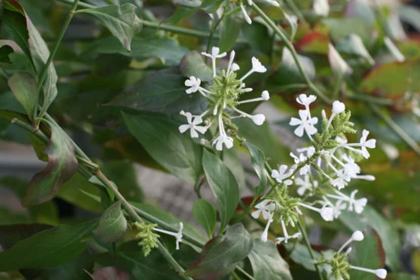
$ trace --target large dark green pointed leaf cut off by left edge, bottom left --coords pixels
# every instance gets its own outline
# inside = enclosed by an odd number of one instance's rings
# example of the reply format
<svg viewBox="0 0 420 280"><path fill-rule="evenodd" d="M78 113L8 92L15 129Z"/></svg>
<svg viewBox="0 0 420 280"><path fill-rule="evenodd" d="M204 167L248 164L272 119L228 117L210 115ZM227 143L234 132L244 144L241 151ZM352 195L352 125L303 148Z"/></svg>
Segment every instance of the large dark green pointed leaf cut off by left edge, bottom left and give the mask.
<svg viewBox="0 0 420 280"><path fill-rule="evenodd" d="M86 238L97 223L92 220L78 225L59 225L23 239L9 250L0 252L0 271L39 269L66 263L86 249Z"/></svg>

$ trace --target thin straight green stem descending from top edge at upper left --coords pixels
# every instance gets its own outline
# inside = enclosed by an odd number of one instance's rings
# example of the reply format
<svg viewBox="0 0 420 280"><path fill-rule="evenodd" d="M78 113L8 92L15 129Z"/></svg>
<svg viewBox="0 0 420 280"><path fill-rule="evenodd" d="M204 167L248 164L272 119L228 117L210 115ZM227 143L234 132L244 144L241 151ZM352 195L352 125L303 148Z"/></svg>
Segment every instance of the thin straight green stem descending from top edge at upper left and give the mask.
<svg viewBox="0 0 420 280"><path fill-rule="evenodd" d="M50 56L48 57L48 60L47 60L47 62L46 62L46 64L45 64L45 66L44 66L44 68L43 68L43 71L42 71L42 72L41 72L41 74L39 75L38 85L37 85L37 87L36 87L35 106L37 106L37 105L38 105L39 95L40 95L40 93L41 93L41 89L43 88L44 81L45 81L45 79L46 79L46 77L47 77L47 74L48 74L48 69L50 68L51 62L53 61L53 59L54 59L54 57L55 57L55 55L56 55L56 53L57 53L58 47L59 47L59 46L60 46L60 44L61 44L61 40L62 40L62 39L63 39L63 37L64 37L64 33L66 33L67 27L69 26L70 21L71 21L71 19L73 18L73 14L74 14L74 11L75 11L75 10L76 10L76 8L77 8L77 4L78 4L78 3L79 3L79 0L75 0L75 1L74 1L74 3L73 3L73 5L71 6L71 10L70 10L70 12L69 12L69 13L68 13L68 15L67 15L66 20L64 21L64 25L63 25L63 27L61 28L60 33L58 34L57 42L56 42L56 44L54 45L54 48L53 48L53 50L51 51ZM43 107L41 108L40 112L39 112L39 117L43 117L43 115L44 115L44 113L45 113L46 111L47 111L47 108L43 106ZM33 115L32 115L32 119L33 119L33 121L35 121L35 119L37 118L37 113L38 113L38 111L37 111L36 109L35 109L35 110L33 110ZM37 126L37 125L36 125L36 126Z"/></svg>

